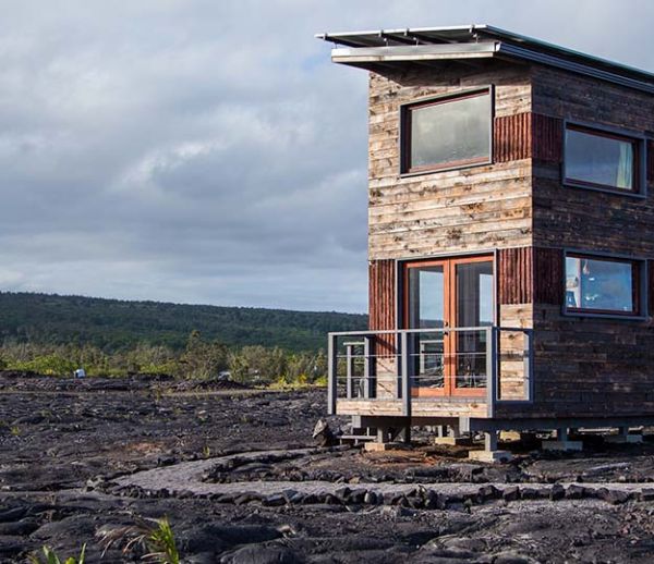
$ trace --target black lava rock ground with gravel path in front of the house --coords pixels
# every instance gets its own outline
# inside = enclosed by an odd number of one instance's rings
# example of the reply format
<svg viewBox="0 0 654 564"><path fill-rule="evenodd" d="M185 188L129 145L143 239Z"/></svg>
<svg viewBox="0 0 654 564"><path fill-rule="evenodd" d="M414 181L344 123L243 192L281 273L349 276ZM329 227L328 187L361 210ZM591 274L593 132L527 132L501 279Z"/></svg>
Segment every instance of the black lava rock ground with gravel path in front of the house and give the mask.
<svg viewBox="0 0 654 564"><path fill-rule="evenodd" d="M0 562L138 562L126 527L164 516L187 563L653 560L654 443L366 454L314 443L322 391L230 388L0 376Z"/></svg>

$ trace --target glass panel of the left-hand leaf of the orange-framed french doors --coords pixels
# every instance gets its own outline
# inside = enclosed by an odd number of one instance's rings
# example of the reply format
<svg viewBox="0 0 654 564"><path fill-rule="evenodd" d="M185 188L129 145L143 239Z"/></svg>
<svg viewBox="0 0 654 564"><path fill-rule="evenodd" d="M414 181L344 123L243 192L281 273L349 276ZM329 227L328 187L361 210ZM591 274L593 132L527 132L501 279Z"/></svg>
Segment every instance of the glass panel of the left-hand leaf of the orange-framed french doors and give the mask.
<svg viewBox="0 0 654 564"><path fill-rule="evenodd" d="M409 329L443 329L445 275L443 266L409 269ZM413 338L413 385L445 387L443 333L416 333Z"/></svg>

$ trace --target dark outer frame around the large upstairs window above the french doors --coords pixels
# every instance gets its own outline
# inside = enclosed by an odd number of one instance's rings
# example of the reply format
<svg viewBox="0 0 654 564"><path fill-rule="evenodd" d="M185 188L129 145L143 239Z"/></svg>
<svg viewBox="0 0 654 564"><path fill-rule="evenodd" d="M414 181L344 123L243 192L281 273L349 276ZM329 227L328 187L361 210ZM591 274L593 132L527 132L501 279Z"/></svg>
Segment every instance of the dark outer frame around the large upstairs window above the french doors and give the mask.
<svg viewBox="0 0 654 564"><path fill-rule="evenodd" d="M429 164L424 167L411 167L411 111L416 108L437 106L477 96L489 97L488 122L488 157L483 159L469 159L464 161L449 161L439 164ZM493 164L493 132L495 127L495 88L492 84L457 90L452 93L428 96L411 100L400 105L400 124L399 124L399 154L400 154L400 176L416 176L421 174L432 174L435 172L445 172L450 170L469 169L473 167L483 167Z"/></svg>

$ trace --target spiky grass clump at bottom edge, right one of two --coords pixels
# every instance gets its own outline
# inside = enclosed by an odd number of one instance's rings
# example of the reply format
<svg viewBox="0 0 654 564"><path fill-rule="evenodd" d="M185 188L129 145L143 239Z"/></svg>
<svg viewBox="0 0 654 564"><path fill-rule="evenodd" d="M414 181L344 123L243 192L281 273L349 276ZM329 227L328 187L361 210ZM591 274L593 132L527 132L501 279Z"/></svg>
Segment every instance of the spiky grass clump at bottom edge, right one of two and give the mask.
<svg viewBox="0 0 654 564"><path fill-rule="evenodd" d="M126 541L123 547L123 554L130 552L134 545L141 544L147 551L142 557L144 562L180 564L180 554L168 517L160 519L140 517L136 519L136 525L118 527L102 532L99 540L105 547L102 556L113 543Z"/></svg>

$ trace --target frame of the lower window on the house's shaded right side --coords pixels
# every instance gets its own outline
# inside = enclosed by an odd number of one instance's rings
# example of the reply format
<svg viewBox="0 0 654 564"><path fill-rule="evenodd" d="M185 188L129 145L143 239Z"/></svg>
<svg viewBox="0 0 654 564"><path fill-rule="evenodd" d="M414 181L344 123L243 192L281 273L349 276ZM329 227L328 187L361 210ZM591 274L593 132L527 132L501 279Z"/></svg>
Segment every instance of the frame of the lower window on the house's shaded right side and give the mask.
<svg viewBox="0 0 654 564"><path fill-rule="evenodd" d="M569 307L566 299L566 259L568 257L631 263L631 295L634 308L631 311L619 311L614 309L590 309L581 307ZM562 268L562 315L569 317L594 317L604 319L644 320L647 315L647 259L631 255L618 255L614 253L601 253L596 250L565 249Z"/></svg>

